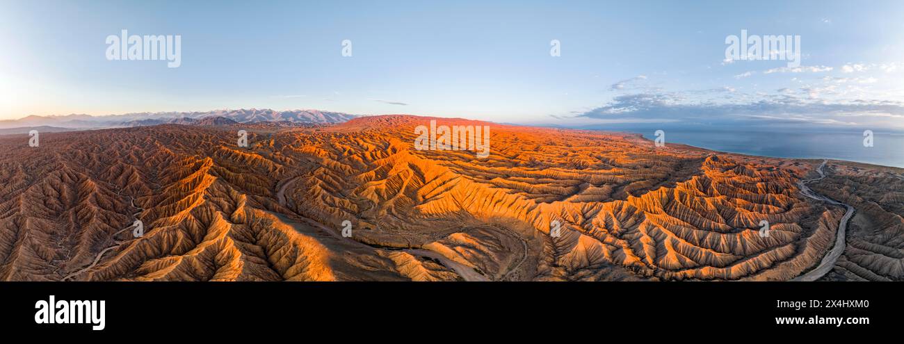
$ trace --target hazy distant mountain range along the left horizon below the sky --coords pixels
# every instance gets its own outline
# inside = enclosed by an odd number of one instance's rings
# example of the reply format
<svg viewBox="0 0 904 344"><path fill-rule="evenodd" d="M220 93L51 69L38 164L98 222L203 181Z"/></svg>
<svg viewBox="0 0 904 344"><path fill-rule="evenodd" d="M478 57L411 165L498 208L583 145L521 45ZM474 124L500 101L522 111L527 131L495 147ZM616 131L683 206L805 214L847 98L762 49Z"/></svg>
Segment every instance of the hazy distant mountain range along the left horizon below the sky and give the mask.
<svg viewBox="0 0 904 344"><path fill-rule="evenodd" d="M329 124L343 123L356 116L341 112L319 110L285 110L277 111L268 108L239 109L239 110L213 110L204 112L141 112L124 115L89 116L89 115L64 115L64 116L25 116L19 119L0 120L0 129L29 127L29 126L54 126L67 129L89 129L123 126L155 126L161 124L198 124L198 120L207 117L219 117L221 119L209 122L209 125L228 125L225 120L235 123L258 122L287 122L297 124ZM207 124L201 124L207 125Z"/></svg>

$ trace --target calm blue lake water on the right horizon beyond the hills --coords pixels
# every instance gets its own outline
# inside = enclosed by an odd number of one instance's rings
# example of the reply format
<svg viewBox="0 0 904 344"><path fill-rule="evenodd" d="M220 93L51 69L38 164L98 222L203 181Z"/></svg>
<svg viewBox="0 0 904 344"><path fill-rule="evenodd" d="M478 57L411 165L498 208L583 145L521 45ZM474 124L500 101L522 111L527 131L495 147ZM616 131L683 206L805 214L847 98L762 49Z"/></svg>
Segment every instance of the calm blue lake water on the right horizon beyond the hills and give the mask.
<svg viewBox="0 0 904 344"><path fill-rule="evenodd" d="M654 140L655 130L624 130ZM835 159L904 167L904 135L874 133L863 146L862 133L776 133L680 130L665 131L665 144L679 143L713 151L782 158Z"/></svg>

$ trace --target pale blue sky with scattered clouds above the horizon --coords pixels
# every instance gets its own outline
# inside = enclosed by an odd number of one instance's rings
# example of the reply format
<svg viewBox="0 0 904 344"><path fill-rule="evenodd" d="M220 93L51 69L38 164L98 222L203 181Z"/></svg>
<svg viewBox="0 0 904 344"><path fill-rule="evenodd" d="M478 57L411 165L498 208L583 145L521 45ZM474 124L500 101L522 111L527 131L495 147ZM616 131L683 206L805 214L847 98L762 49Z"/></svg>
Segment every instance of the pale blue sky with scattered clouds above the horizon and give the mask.
<svg viewBox="0 0 904 344"><path fill-rule="evenodd" d="M5 1L0 119L313 108L594 126L904 130L904 2ZM181 65L108 60L179 35ZM799 36L801 60L727 60ZM343 56L343 41L352 56ZM560 56L551 56L551 41Z"/></svg>

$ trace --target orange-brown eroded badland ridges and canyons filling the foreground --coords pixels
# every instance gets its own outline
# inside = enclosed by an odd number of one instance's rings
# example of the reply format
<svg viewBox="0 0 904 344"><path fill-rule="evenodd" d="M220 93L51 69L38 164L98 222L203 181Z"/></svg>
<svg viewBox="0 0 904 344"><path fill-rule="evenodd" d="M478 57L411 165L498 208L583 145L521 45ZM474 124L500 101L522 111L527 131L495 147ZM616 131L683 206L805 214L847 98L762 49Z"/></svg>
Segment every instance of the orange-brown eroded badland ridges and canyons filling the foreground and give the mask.
<svg viewBox="0 0 904 344"><path fill-rule="evenodd" d="M431 119L490 126L489 156L415 149ZM189 122L0 136L0 280L904 279L902 169L421 116Z"/></svg>

